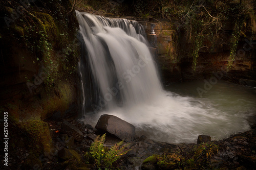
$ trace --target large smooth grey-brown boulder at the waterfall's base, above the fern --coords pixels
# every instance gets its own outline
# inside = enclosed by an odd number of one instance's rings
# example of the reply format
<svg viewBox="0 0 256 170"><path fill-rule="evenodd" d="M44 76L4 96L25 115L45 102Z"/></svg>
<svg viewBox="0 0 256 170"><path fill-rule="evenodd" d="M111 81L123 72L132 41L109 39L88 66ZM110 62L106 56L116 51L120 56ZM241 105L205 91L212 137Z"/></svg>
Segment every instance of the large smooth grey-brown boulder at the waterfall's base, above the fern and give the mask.
<svg viewBox="0 0 256 170"><path fill-rule="evenodd" d="M132 124L113 115L101 115L95 128L109 132L127 142L132 141L135 136L135 127Z"/></svg>

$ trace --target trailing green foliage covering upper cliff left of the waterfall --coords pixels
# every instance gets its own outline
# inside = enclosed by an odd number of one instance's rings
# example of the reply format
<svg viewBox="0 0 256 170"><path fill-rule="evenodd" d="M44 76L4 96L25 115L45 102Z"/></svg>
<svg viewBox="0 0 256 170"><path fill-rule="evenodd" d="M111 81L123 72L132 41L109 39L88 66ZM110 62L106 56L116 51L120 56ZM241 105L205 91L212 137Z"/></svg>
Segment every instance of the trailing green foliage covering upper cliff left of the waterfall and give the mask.
<svg viewBox="0 0 256 170"><path fill-rule="evenodd" d="M50 89L56 80L67 79L76 72L78 45L73 45L73 40L78 22L74 11L67 12L72 8L70 1L35 1L25 5L25 9L18 11L9 26L2 23L0 34L6 44L12 40L15 42L12 46L26 49L26 56L30 55L35 64L33 67L44 65L44 73L47 75L45 83ZM19 2L3 2L0 5L3 11L1 16L12 19L20 7ZM7 54L12 47L6 44L1 44L3 54ZM20 61L26 62L24 57ZM26 75L26 80L33 82L33 77Z"/></svg>

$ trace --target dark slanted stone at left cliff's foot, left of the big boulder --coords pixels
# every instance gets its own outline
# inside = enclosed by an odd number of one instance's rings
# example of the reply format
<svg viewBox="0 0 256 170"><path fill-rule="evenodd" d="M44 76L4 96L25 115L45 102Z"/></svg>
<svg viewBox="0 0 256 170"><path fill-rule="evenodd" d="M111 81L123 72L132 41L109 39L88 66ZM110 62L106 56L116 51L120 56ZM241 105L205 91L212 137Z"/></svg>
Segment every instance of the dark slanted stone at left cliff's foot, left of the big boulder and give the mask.
<svg viewBox="0 0 256 170"><path fill-rule="evenodd" d="M74 125L64 120L61 124L61 132L66 133L69 136L73 136L75 140L81 141L83 139L82 132Z"/></svg>

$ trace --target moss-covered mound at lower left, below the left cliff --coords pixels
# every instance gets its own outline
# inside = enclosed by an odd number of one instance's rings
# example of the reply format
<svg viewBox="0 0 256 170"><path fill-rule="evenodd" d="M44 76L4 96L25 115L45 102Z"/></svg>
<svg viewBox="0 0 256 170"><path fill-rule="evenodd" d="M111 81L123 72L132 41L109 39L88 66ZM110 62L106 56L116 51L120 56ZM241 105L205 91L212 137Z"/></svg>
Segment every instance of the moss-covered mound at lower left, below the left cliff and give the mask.
<svg viewBox="0 0 256 170"><path fill-rule="evenodd" d="M29 120L20 123L18 127L29 137L29 147L34 154L50 153L52 139L48 124L41 120Z"/></svg>

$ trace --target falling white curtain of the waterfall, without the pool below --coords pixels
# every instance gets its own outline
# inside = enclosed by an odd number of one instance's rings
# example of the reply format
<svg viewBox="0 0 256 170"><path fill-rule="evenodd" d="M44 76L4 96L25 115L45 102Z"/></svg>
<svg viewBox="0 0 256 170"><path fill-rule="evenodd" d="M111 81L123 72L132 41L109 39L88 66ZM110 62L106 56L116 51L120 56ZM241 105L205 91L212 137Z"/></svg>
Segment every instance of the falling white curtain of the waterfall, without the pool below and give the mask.
<svg viewBox="0 0 256 170"><path fill-rule="evenodd" d="M91 68L93 110L130 107L161 93L156 64L146 34L137 21L110 19L76 11L83 48L79 71L83 96L87 65ZM86 107L83 99L83 107ZM88 104L89 105L89 104ZM83 108L86 110L86 108Z"/></svg>

